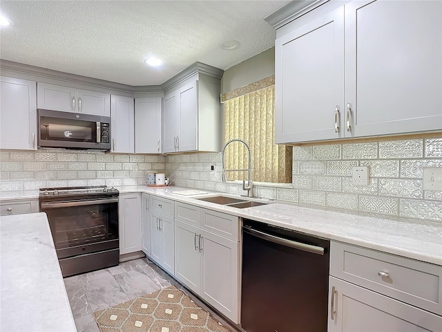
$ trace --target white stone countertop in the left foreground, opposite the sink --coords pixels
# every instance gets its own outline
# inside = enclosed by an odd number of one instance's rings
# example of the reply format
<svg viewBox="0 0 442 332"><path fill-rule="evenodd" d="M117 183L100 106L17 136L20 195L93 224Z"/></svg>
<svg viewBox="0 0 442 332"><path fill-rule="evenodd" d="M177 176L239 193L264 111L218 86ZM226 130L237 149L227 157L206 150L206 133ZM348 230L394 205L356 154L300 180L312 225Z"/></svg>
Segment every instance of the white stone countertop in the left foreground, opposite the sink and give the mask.
<svg viewBox="0 0 442 332"><path fill-rule="evenodd" d="M0 217L0 331L76 332L46 213Z"/></svg>

